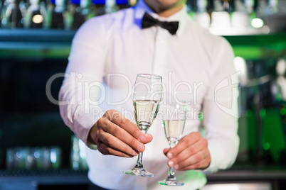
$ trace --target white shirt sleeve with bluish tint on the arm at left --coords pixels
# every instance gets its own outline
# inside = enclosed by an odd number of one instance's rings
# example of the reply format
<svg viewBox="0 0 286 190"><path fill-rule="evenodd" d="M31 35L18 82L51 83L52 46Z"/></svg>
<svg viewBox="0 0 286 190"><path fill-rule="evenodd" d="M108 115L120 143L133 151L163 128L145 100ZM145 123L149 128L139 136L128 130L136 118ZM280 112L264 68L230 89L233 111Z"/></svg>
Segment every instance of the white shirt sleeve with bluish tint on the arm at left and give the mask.
<svg viewBox="0 0 286 190"><path fill-rule="evenodd" d="M102 110L105 98L102 77L105 71L104 28L97 18L81 26L71 45L65 79L60 88L60 115L86 145L88 134ZM92 146L90 146L92 147Z"/></svg>

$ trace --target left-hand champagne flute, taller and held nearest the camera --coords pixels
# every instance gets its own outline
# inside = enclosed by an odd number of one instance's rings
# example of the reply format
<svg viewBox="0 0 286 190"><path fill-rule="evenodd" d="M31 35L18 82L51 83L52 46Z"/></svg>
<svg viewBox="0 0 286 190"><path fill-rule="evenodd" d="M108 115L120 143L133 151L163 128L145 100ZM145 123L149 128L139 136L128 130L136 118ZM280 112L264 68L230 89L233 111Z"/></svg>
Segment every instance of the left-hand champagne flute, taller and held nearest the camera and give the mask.
<svg viewBox="0 0 286 190"><path fill-rule="evenodd" d="M162 79L159 75L137 75L133 94L134 117L137 127L145 134L157 116L162 94ZM134 168L123 173L142 177L154 177L154 174L144 169L142 156L143 153L139 152Z"/></svg>

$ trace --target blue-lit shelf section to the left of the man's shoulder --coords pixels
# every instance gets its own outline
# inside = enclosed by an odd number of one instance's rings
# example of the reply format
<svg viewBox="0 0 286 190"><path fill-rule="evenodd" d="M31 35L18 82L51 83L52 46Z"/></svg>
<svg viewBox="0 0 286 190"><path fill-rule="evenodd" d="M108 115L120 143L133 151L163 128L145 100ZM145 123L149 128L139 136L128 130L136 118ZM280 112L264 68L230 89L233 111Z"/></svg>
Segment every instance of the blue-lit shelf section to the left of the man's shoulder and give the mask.
<svg viewBox="0 0 286 190"><path fill-rule="evenodd" d="M1 58L67 59L75 30L1 29Z"/></svg>

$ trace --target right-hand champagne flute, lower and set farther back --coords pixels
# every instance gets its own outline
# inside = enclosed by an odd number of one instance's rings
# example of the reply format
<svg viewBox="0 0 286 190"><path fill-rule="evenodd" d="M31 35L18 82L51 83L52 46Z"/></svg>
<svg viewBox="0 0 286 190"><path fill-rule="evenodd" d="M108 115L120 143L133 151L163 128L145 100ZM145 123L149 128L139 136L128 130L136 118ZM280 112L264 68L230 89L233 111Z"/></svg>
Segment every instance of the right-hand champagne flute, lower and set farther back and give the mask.
<svg viewBox="0 0 286 190"><path fill-rule="evenodd" d="M168 140L169 147L174 147L184 131L186 123L186 104L177 103L164 106L163 126ZM158 184L166 186L182 186L184 183L177 181L175 177L174 167L169 168L168 177L164 181L159 181Z"/></svg>

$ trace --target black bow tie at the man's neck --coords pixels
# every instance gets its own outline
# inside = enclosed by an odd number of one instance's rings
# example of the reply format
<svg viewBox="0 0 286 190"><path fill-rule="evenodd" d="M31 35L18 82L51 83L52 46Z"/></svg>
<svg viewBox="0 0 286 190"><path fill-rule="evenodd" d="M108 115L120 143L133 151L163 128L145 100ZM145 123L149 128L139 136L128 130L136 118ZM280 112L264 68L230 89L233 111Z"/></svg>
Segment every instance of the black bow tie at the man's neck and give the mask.
<svg viewBox="0 0 286 190"><path fill-rule="evenodd" d="M149 28L151 26L161 26L161 28L168 30L171 35L174 35L176 34L176 30L178 30L179 22L159 21L156 18L150 16L148 13L145 13L142 18L142 28Z"/></svg>

